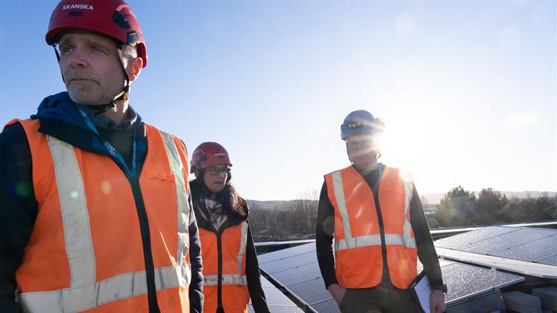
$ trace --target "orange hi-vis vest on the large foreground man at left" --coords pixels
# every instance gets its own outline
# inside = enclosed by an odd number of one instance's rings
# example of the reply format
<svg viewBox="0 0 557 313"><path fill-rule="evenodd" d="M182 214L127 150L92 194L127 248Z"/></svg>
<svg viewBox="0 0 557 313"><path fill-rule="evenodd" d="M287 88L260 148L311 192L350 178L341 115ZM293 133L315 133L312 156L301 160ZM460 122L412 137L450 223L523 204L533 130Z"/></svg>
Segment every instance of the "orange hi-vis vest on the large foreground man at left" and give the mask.
<svg viewBox="0 0 557 313"><path fill-rule="evenodd" d="M130 182L109 157L24 128L38 215L16 271L26 312L147 312L147 277ZM13 124L11 122L10 124ZM157 302L189 312L187 155L178 138L146 125L139 187L149 221Z"/></svg>

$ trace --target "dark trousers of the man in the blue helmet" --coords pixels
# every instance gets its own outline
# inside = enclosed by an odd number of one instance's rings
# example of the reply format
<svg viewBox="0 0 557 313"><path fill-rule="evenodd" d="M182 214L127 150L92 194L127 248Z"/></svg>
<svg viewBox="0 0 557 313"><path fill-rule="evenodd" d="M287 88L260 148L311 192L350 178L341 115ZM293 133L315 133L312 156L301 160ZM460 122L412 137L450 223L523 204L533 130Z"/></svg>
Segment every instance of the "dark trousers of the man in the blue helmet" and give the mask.
<svg viewBox="0 0 557 313"><path fill-rule="evenodd" d="M410 289L397 289L390 282L373 288L346 289L338 307L343 313L421 312Z"/></svg>

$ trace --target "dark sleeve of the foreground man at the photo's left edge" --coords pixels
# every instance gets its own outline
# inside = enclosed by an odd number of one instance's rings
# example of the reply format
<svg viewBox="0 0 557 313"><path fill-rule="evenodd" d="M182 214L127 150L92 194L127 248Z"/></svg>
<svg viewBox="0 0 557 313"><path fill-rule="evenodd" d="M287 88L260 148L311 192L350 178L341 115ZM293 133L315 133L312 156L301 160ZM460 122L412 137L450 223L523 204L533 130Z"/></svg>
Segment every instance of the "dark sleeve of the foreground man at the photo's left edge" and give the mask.
<svg viewBox="0 0 557 313"><path fill-rule="evenodd" d="M0 133L0 312L21 312L15 270L37 217L31 150L22 125Z"/></svg>

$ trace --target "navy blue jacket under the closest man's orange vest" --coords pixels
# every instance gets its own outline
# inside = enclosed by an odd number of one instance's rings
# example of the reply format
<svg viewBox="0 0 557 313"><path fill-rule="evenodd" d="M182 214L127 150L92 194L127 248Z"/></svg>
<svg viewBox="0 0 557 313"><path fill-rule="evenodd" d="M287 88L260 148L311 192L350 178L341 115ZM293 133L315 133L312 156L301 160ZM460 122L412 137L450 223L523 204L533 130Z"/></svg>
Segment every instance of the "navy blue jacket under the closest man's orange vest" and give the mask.
<svg viewBox="0 0 557 313"><path fill-rule="evenodd" d="M141 168L148 150L145 126L139 115L132 125L132 127L135 127L138 138L137 155L139 156L139 162L136 177L127 174L127 170L125 170L127 166L112 157L100 138L87 127L84 118L79 114L68 93L58 93L43 99L38 107L37 114L31 115L31 118L40 120L39 131L41 133L59 138L82 150L107 155L120 166L130 184L139 181ZM118 139L116 138L118 136L125 136L125 132L116 134L107 129L100 131L100 133L103 136L104 134L115 134L114 139ZM115 145L111 138L105 139L118 150L118 145ZM22 125L16 123L6 127L0 133L0 312L22 311L19 303L15 301L17 287L15 271L22 263L24 248L29 241L37 217L32 166L31 150ZM143 203L136 202L136 207L140 220L143 255L145 255L146 262L150 312L159 312L155 293L152 252L149 248L150 244L148 244L150 242L148 220ZM189 197L189 207L190 209L193 207L191 197ZM192 272L191 284L189 285L190 310L191 312L201 313L203 312L201 241L199 240L193 209L191 209L190 216L189 255Z"/></svg>

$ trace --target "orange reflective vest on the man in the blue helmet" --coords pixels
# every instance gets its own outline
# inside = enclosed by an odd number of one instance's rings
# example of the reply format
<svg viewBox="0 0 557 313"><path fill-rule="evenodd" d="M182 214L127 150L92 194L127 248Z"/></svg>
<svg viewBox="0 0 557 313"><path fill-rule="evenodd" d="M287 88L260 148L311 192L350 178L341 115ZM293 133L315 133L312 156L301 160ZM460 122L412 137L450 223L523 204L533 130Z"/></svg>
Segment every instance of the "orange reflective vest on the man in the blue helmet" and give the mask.
<svg viewBox="0 0 557 313"><path fill-rule="evenodd" d="M335 211L336 279L342 287L370 288L381 282L382 244L386 246L393 285L407 289L416 278L416 240L410 224L414 183L409 175L387 166L380 179L378 195L384 243L374 196L366 179L354 166L325 175Z"/></svg>

